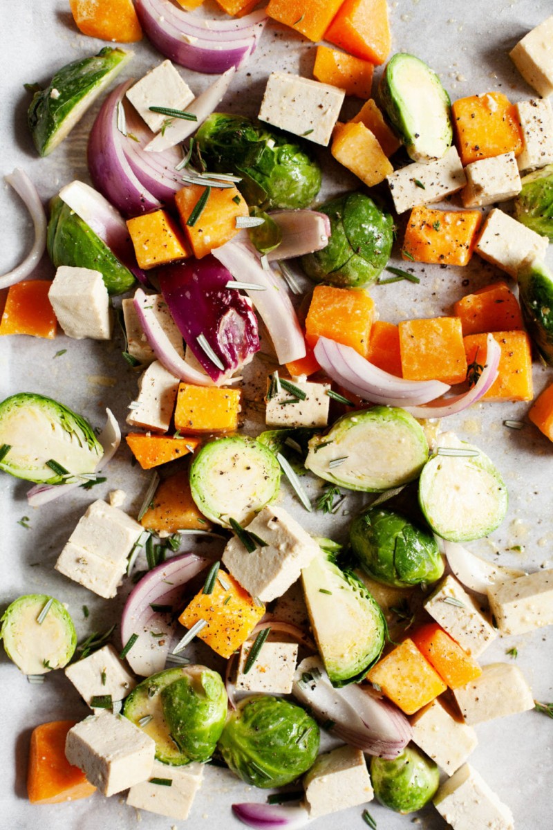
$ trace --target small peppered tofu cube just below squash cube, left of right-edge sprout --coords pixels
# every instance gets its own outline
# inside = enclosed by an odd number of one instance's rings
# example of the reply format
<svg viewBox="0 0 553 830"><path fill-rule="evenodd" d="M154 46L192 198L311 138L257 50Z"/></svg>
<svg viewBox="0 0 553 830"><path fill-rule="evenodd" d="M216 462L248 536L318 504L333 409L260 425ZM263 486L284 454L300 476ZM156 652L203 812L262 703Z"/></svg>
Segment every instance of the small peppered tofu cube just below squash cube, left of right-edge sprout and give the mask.
<svg viewBox="0 0 553 830"><path fill-rule="evenodd" d="M521 192L521 176L514 153L478 159L464 168L467 184L461 198L465 207L505 202Z"/></svg>

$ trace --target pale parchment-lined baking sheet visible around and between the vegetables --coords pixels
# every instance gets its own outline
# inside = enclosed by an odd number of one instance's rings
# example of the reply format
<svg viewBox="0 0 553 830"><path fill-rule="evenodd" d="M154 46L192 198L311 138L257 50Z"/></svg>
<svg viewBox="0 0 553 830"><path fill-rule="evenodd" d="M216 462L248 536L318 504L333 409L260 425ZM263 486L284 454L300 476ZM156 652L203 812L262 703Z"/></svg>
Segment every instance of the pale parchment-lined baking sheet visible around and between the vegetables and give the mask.
<svg viewBox="0 0 553 830"><path fill-rule="evenodd" d="M27 170L46 202L72 178L88 181L85 168L85 145L90 125L99 104L95 105L60 148L48 159L38 159L27 134L25 114L28 95L24 82L47 81L60 66L98 51L104 42L81 36L72 25L64 0L43 2L2 2L2 108L0 108L0 172L8 173L20 166ZM517 75L507 51L528 30L551 14L551 0L532 2L453 2L453 0L400 0L390 3L393 50L410 51L439 72L452 100L477 92L501 90L511 100L529 97L532 91ZM146 41L130 48L135 57L124 75L139 77L162 60ZM284 31L272 23L264 32L260 46L250 63L235 79L225 109L255 115L269 71L288 70L311 76L315 47L303 38ZM206 76L183 70L183 75L199 92L211 82ZM380 71L376 72L376 78ZM347 100L349 117L361 107L361 101ZM321 153L326 171L326 193L355 187L356 181L344 168ZM2 183L2 247L0 271L7 271L19 261L31 244L31 225L17 196ZM401 237L401 234L400 234ZM551 251L549 255L551 264ZM398 260L396 265L401 265ZM405 266L405 264L404 264ZM415 266L420 285L394 284L371 291L384 320L448 314L451 304L471 289L504 275L486 265L478 256L464 269L440 269ZM51 277L53 269L43 260L36 276ZM101 426L106 406L124 425L127 405L136 389L136 374L121 359L119 335L109 344L75 341L58 336L55 340L29 337L0 339L0 399L18 391L35 391L59 398L90 421ZM66 349L65 354L56 353ZM260 369L264 370L263 364ZM551 369L534 366L536 393L551 383ZM248 398L255 398L251 388ZM254 415L257 411L250 408ZM258 402L259 403L259 402ZM259 407L258 407L259 408ZM447 428L460 437L478 444L497 463L507 481L510 507L502 526L486 540L470 547L488 559L500 559L535 569L551 567L553 520L551 519L551 460L553 447L534 427L526 423L521 431L502 425L506 418L524 418L525 403L477 405L463 416L449 418ZM79 637L92 630L104 630L119 621L125 589L121 598L106 602L80 588L53 570L61 547L86 506L95 498L107 496L121 487L128 493L124 505L136 515L149 475L132 470L129 452L122 447L109 465L108 481L93 491L76 491L37 510L27 506L28 485L10 476L0 476L0 558L2 579L1 608L22 593L46 592L68 604ZM314 498L316 482L308 482ZM360 496L348 498L346 515L330 519L320 513L308 514L293 499L284 483L282 500L303 525L312 532L332 534L341 539ZM362 500L362 496L361 496ZM28 516L29 527L19 524ZM219 545L219 546L217 546ZM508 549L520 545L522 553ZM198 544L199 552L221 553L217 542ZM497 557L499 554L499 557ZM82 606L90 608L85 619ZM541 701L553 699L553 650L551 629L524 637L500 639L483 655L483 662L509 660L508 648L517 647L517 666L525 672L534 696ZM63 718L79 720L89 714L73 686L61 671L52 672L41 686L31 686L5 655L0 655L0 740L2 776L0 776L0 827L10 830L29 828L37 821L43 830L99 830L109 823L112 828L135 828L140 818L144 830L169 828L174 822L150 813L138 817L127 808L124 798L106 799L99 795L75 803L32 807L26 797L25 775L27 749L32 728L45 721ZM553 724L544 715L528 712L506 720L478 726L479 745L471 763L483 773L497 795L515 815L518 828L551 827L550 785L553 779L551 757ZM192 808L188 826L194 830L241 827L230 813L230 804L240 801L263 801L264 791L246 787L228 771L206 768L204 784ZM381 830L400 830L410 826L409 817L391 813L371 803L369 809ZM415 819L421 827L440 830L446 825L427 808ZM318 820L321 830L362 826L361 808L352 808ZM478 830L478 828L474 828Z"/></svg>

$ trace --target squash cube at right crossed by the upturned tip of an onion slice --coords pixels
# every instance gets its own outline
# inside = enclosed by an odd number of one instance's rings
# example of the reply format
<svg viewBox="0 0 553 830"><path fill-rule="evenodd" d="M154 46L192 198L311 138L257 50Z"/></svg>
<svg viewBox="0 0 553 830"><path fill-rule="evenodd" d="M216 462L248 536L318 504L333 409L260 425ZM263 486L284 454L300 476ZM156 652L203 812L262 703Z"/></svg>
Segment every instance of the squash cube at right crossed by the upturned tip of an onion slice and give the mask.
<svg viewBox="0 0 553 830"><path fill-rule="evenodd" d="M494 331L501 346L499 374L483 396L484 401L531 401L534 397L530 338L526 331ZM464 338L467 363L486 364L487 334L468 334Z"/></svg>

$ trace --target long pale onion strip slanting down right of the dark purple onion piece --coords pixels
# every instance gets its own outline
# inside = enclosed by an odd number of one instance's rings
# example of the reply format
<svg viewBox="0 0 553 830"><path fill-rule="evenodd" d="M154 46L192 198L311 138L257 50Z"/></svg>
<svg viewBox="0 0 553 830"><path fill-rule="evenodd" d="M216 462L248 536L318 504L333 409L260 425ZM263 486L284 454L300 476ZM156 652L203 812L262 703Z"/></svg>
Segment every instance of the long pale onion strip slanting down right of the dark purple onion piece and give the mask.
<svg viewBox="0 0 553 830"><path fill-rule="evenodd" d="M250 300L267 326L279 364L305 357L305 340L298 317L283 280L270 268L260 265L245 232L211 251L228 268L235 280L263 286L266 291L248 291Z"/></svg>

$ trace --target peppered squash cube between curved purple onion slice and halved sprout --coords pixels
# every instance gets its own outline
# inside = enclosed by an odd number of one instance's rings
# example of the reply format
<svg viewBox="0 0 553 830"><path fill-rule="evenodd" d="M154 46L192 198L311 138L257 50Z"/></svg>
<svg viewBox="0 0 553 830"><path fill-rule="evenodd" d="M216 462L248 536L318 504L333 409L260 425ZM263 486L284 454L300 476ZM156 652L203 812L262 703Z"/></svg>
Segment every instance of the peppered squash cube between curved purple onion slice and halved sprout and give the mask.
<svg viewBox="0 0 553 830"><path fill-rule="evenodd" d="M187 628L204 620L206 626L197 637L221 657L230 657L250 637L265 607L230 574L221 574L221 577L216 579L211 593L197 593L178 619ZM224 588L223 584L228 587Z"/></svg>

